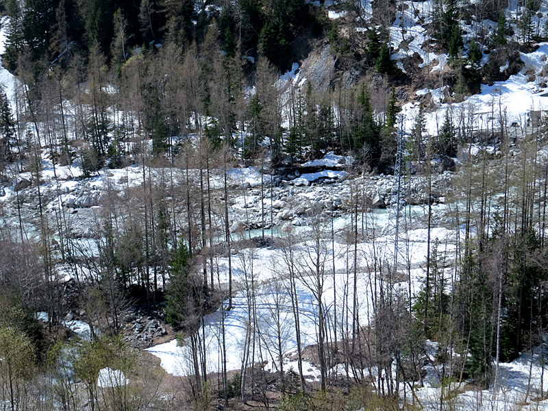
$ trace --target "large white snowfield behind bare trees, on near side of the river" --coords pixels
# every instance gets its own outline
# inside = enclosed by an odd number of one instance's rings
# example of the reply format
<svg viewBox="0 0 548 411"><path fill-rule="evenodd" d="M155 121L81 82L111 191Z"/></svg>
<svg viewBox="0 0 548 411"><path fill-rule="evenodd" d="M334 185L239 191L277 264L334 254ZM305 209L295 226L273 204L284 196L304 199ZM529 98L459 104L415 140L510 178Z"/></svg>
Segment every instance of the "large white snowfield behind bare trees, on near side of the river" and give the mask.
<svg viewBox="0 0 548 411"><path fill-rule="evenodd" d="M313 193L302 193L302 200L299 203L306 201ZM420 213L422 208L416 207L412 209L411 214ZM437 210L437 206L436 206ZM423 211L422 211L423 212ZM373 232L381 233L382 227L388 221L387 210L380 210L374 213L369 213L364 216L366 224ZM333 229L336 233L342 233L348 227L350 217L340 217L333 221ZM291 226L292 227L292 226ZM375 227L375 228L373 228ZM331 222L325 222L325 232L330 232ZM282 242L293 241L293 252L295 253L295 262L297 269L301 272L295 279L295 288L299 301L301 343L303 347L317 344L317 313L319 310L318 301L314 297L314 287L316 286L315 277L307 268L306 262L313 260L317 252L321 253L322 258L327 260L325 268L325 276L323 277L323 300L322 304L329 307L327 312L327 321L333 321L332 315L334 309L341 313L338 322L338 329L351 327L350 323L346 323L342 313L352 312L353 304L349 301L343 301L336 295L343 295L345 290L351 289L352 275L349 274L349 269L353 265L353 254L348 244L340 242L336 239L332 249L330 242L322 243L321 250L314 247L314 240L310 238L313 232L310 232L310 227L292 227L289 234L281 234ZM427 256L426 229L410 229L406 233L406 241L410 247L410 264L423 264ZM432 229L432 238L439 238L447 247L448 256L454 254L456 249L451 239L456 238L456 233L441 227ZM445 246L445 241L447 246ZM400 240L401 241L401 240ZM374 275L371 273L372 267L369 265L373 260L373 255L388 256L390 249L394 247L393 235L387 234L377 236L375 243L361 242L358 244L357 250L357 288L358 290L371 289ZM279 353L277 351L278 338L281 339L282 358L284 362L284 370L289 366L297 369L295 363L295 352L297 349L297 338L295 334L295 317L292 312L290 300L290 282L287 278L287 266L285 260L284 249L262 247L256 249L254 247L247 249L238 249L232 256L232 275L234 281L234 289L240 290L234 293L232 301L232 310L226 312L225 316L225 332L227 347L227 369L239 370L242 364L251 364L256 362L266 362L266 369L275 370L279 366ZM332 260L334 256L334 261ZM334 265L335 271L328 270L327 266ZM219 266L219 282L221 285L227 284L228 278L228 261L225 257L219 257L216 266ZM412 271L412 284L414 284L414 292L418 292L420 280L423 277L423 269L414 269ZM253 284L253 288L251 288ZM406 288L406 284L399 284ZM255 309L253 306L248 306L249 295L256 300ZM371 318L372 297L369 293L360 292L356 306L356 312L360 318L360 324L365 326ZM199 331L201 338L204 338L206 343L206 358L208 372L219 372L222 370L223 355L220 347L222 346L222 318L221 309L209 314L205 317L204 329ZM351 316L350 316L351 317ZM256 355L251 358L249 353L247 336L249 336L253 327L253 318L256 318L258 327L260 328L260 336L256 336ZM280 325L278 332L277 325ZM333 331L330 330L330 333ZM338 336L340 338L340 336ZM329 336L329 340L335 340L335 336ZM177 346L177 340L172 340L169 343L157 345L147 349L153 355L160 358L162 367L166 372L173 375L191 375L192 361L190 357L190 347L182 345ZM312 379L318 378L314 364L306 364L305 372Z"/></svg>

